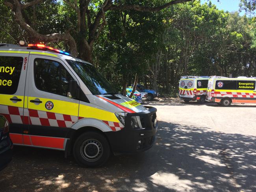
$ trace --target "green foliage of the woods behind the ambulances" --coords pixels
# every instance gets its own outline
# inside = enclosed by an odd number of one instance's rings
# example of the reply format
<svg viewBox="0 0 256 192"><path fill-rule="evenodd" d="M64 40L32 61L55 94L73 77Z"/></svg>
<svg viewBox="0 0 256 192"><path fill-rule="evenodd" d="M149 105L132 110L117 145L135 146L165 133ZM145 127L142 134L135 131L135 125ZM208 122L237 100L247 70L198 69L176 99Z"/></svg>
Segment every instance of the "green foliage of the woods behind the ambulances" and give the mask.
<svg viewBox="0 0 256 192"><path fill-rule="evenodd" d="M79 5L77 0L70 2ZM90 1L92 20L103 2ZM159 6L164 2L167 0L124 0L122 4ZM253 11L255 0L241 0L241 6ZM30 42L30 35L16 24L3 0L0 12L0 42ZM76 42L89 38L89 30L78 33L77 13L63 1L46 0L22 14L39 33L70 30ZM146 88L157 83L160 93L170 96L176 96L181 75L256 76L255 17L224 13L211 2L201 4L199 0L154 13L111 10L105 14L107 25L92 46L93 61L119 90L125 83L134 83L136 73ZM63 41L51 46L67 49Z"/></svg>

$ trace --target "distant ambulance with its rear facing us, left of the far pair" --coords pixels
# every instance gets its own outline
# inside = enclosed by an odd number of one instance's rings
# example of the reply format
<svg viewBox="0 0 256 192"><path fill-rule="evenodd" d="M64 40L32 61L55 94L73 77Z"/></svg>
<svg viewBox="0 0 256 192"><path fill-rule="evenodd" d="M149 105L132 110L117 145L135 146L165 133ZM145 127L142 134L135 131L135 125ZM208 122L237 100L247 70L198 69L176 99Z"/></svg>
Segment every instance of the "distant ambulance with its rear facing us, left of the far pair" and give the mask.
<svg viewBox="0 0 256 192"><path fill-rule="evenodd" d="M186 103L189 101L204 103L208 79L208 76L181 76L179 97Z"/></svg>

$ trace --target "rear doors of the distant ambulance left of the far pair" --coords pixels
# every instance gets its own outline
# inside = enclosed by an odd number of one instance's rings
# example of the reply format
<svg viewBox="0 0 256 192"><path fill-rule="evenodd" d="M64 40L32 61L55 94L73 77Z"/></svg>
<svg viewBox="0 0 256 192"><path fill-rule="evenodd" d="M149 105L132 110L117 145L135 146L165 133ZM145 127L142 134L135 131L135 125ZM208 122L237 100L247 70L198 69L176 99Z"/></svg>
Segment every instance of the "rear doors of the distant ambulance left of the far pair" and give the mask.
<svg viewBox="0 0 256 192"><path fill-rule="evenodd" d="M180 88L179 94L181 97L193 98L194 97L194 88L196 87L195 79L180 79Z"/></svg>

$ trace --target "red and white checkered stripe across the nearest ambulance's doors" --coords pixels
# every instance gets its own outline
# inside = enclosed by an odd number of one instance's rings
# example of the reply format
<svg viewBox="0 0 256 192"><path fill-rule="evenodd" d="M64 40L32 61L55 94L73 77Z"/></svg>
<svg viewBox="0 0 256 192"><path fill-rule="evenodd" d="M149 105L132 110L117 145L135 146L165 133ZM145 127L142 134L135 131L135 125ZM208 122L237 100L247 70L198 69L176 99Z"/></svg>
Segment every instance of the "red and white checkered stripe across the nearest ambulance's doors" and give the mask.
<svg viewBox="0 0 256 192"><path fill-rule="evenodd" d="M39 126L52 127L71 127L78 121L77 116L51 113L46 111L37 111L33 109L24 109L21 107L13 107L0 105L0 111L10 123L30 124Z"/></svg>

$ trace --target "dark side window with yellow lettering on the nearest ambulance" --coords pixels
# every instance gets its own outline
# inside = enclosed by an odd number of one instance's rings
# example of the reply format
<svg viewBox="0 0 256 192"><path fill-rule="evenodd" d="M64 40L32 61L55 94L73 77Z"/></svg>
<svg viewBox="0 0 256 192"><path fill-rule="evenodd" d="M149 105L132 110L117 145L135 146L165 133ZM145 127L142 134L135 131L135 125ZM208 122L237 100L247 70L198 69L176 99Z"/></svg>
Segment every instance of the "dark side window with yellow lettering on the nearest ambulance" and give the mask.
<svg viewBox="0 0 256 192"><path fill-rule="evenodd" d="M0 56L0 94L15 94L22 64L23 57Z"/></svg>

